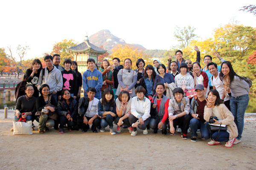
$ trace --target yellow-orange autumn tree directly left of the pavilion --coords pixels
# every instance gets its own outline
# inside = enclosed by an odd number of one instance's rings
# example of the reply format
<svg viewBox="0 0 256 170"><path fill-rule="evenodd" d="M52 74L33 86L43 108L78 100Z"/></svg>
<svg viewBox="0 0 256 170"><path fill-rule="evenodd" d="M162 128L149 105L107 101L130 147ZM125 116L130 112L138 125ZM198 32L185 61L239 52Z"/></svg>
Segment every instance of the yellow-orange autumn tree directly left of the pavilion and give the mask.
<svg viewBox="0 0 256 170"><path fill-rule="evenodd" d="M64 39L61 42L55 42L55 44L53 45L52 48L52 52L50 52L49 54L51 54L52 56L54 54L60 54L61 56L61 62L60 65L63 66L63 61L66 58L70 58L71 60L73 60L73 56L72 54L68 54L66 51L68 48L77 45L78 43L75 42L75 40L73 39Z"/></svg>

